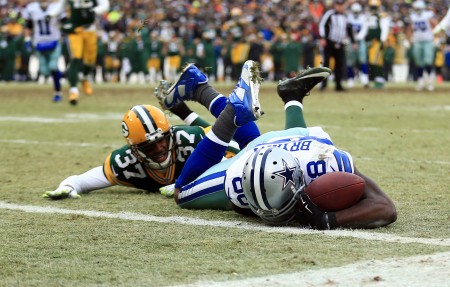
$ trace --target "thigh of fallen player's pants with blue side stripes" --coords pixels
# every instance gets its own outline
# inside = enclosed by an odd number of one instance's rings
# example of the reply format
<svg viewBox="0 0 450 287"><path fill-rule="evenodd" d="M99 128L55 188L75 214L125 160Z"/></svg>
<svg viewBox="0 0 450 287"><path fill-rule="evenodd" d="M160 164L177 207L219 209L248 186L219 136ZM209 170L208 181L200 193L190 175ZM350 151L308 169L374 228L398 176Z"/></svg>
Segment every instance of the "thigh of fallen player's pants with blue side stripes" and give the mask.
<svg viewBox="0 0 450 287"><path fill-rule="evenodd" d="M230 210L230 202L224 190L225 173L232 159L222 161L190 184L175 192L175 201L181 208Z"/></svg>

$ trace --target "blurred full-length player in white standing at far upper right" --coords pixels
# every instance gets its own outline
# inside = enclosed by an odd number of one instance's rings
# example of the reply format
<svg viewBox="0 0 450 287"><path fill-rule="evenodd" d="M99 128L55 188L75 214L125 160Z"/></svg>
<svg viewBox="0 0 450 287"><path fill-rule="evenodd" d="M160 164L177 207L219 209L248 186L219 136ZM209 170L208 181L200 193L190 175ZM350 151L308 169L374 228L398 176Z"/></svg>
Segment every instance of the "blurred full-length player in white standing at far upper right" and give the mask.
<svg viewBox="0 0 450 287"><path fill-rule="evenodd" d="M414 11L410 15L411 24L408 28L408 33L412 43L414 64L416 66L416 89L421 91L426 85L429 91L433 91L434 79L432 72L434 68L435 46L432 32L433 27L437 24L437 20L434 12L427 9L424 1L415 1L413 8Z"/></svg>

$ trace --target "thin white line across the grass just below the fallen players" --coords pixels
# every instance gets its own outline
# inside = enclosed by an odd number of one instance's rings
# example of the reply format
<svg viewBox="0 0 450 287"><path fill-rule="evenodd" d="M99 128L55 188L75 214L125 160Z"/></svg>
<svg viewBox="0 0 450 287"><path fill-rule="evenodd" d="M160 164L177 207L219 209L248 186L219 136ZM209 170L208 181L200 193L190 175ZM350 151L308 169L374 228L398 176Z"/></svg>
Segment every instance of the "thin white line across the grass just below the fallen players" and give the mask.
<svg viewBox="0 0 450 287"><path fill-rule="evenodd" d="M259 224L252 224L243 221L220 221L220 220L205 220L200 218L182 217L182 216L169 216L159 217L149 214L134 213L134 212L104 212L95 210L74 210L63 209L52 206L36 206L36 205L19 205L14 203L7 203L0 201L0 209L24 211L29 213L50 213L50 214L76 214L84 215L88 217L101 217L111 219L122 219L132 221L146 221L146 222L160 222L160 223L176 223L184 225L195 226L212 226L212 227L226 227L237 228L252 231L262 231L267 233L282 233L282 234L322 234L330 237L353 237L363 240L377 240L391 243L418 243L426 245L437 246L450 246L450 238L445 239L431 239L431 238L414 238L414 237L402 237L392 234L364 232L360 230L328 230L318 231L312 229L303 229L298 227L272 227Z"/></svg>

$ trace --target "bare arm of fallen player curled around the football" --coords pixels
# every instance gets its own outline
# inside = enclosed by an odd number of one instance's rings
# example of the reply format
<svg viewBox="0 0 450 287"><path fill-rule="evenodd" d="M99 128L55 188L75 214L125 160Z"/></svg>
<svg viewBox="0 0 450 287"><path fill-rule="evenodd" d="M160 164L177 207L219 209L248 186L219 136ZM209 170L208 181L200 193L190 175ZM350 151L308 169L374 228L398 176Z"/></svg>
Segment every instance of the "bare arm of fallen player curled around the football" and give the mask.
<svg viewBox="0 0 450 287"><path fill-rule="evenodd" d="M366 181L362 198L350 208L337 211L337 227L377 228L397 220L397 211L392 200L368 176L359 172L355 174Z"/></svg>

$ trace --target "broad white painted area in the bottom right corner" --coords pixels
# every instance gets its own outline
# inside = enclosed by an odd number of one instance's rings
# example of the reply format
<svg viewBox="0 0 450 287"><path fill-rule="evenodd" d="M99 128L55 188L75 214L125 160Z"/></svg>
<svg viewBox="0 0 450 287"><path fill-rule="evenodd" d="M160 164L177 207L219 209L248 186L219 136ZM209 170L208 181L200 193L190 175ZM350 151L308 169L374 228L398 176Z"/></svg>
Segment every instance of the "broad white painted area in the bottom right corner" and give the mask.
<svg viewBox="0 0 450 287"><path fill-rule="evenodd" d="M199 281L178 287L272 286L449 286L450 252L406 258L361 261L341 267L254 277ZM174 286L173 286L174 287Z"/></svg>

